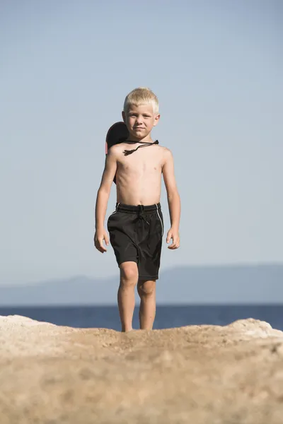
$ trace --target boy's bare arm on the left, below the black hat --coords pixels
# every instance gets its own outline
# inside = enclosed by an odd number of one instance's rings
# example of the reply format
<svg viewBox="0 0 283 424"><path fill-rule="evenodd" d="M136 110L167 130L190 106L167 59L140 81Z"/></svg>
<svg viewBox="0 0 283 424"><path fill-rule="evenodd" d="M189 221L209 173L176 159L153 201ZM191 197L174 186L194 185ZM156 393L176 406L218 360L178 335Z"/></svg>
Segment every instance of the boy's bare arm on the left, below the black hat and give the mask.
<svg viewBox="0 0 283 424"><path fill-rule="evenodd" d="M117 156L115 155L115 149L111 148L106 156L105 168L96 198L96 234L94 235L94 245L101 253L106 252L103 246L103 240L105 240L107 246L109 245L108 233L104 228L104 220L116 170Z"/></svg>

